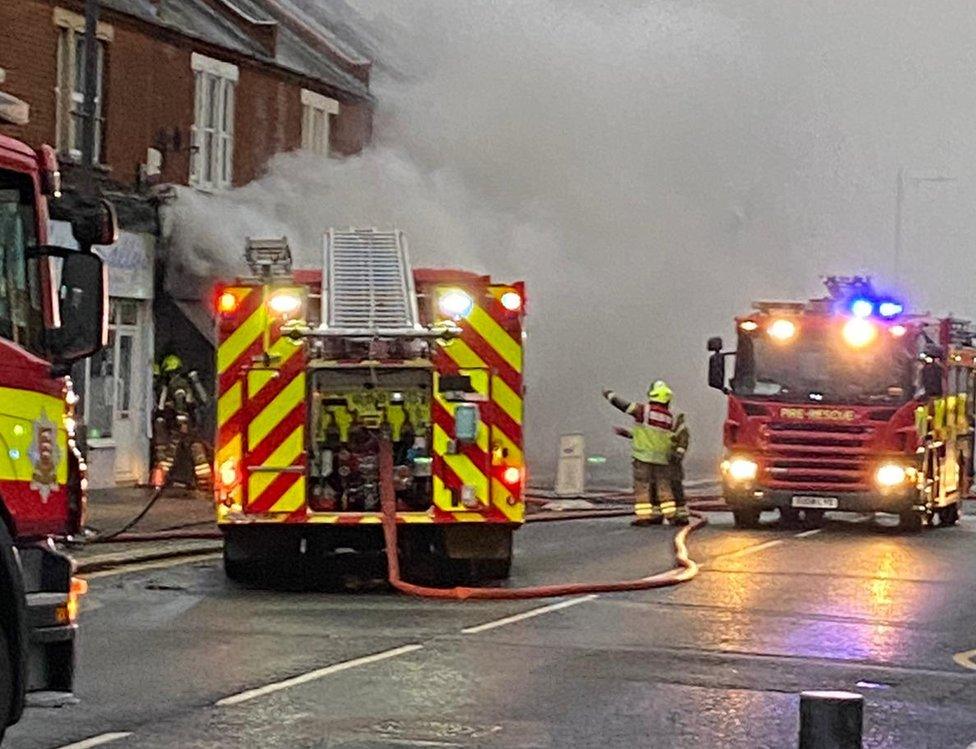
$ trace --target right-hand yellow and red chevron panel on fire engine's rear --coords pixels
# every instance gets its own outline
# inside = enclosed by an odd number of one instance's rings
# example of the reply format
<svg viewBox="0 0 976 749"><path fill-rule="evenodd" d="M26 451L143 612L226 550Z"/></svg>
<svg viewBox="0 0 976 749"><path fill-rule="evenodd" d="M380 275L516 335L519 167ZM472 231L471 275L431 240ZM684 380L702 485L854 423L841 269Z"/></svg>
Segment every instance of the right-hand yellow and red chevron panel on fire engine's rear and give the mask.
<svg viewBox="0 0 976 749"><path fill-rule="evenodd" d="M491 287L488 294L475 294L475 304L461 322L459 338L441 345L436 359L439 374L471 377L474 389L485 397L482 406L484 432L474 445L459 448L459 454L446 454L454 438L454 405L437 396L433 404L434 421L434 507L450 514L462 486L473 486L487 516L504 522L524 518L520 492L512 492L501 480L506 467L524 470L522 453L522 377L521 322L499 302L511 287ZM435 387L435 393L438 388ZM454 513L460 515L462 513ZM472 513L463 513L470 515ZM460 519L460 518L458 518ZM465 518L468 519L469 518Z"/></svg>

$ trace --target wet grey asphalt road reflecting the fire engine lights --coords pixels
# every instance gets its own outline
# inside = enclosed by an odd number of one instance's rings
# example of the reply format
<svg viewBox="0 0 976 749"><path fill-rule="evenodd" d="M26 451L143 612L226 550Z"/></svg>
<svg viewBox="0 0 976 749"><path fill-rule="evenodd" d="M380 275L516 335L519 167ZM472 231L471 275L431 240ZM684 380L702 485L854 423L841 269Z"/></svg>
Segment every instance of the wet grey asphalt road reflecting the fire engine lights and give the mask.
<svg viewBox="0 0 976 749"><path fill-rule="evenodd" d="M697 580L509 622L560 602L254 590L216 559L97 577L80 704L30 709L4 746L782 747L811 688L865 695L866 746L976 741L976 670L958 655L976 648L976 518L918 536L711 520L691 539ZM670 566L670 537L528 526L513 582L642 576Z"/></svg>

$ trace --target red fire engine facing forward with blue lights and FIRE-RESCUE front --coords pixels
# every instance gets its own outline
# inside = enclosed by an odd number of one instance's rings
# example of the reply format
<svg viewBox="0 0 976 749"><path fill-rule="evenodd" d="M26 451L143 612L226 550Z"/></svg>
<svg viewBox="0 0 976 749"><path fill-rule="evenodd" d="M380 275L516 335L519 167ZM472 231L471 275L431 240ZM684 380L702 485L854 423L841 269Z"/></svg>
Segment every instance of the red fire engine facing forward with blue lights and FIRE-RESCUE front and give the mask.
<svg viewBox="0 0 976 749"><path fill-rule="evenodd" d="M754 304L734 351L708 342L736 526L774 509L789 524L829 510L892 513L906 531L955 524L973 476L976 330L907 314L869 278L825 285L821 299Z"/></svg>

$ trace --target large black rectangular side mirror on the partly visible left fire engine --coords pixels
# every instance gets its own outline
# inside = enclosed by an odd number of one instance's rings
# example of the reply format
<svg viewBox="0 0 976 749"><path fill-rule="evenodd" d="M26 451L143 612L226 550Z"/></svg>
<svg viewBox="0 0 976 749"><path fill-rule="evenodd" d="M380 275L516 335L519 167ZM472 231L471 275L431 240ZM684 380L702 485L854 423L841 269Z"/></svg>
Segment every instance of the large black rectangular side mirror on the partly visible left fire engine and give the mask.
<svg viewBox="0 0 976 749"><path fill-rule="evenodd" d="M56 364L69 365L108 342L108 282L102 259L65 247L40 247L33 257L48 260L57 283L60 325L47 330L47 348Z"/></svg>

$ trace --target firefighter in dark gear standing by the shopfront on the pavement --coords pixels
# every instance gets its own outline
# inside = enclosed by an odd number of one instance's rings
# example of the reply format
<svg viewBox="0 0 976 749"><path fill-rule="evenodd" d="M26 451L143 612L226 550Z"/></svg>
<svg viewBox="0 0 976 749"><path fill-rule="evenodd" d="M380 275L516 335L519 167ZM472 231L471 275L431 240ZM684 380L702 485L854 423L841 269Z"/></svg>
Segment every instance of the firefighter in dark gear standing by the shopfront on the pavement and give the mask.
<svg viewBox="0 0 976 749"><path fill-rule="evenodd" d="M183 361L175 354L163 357L153 420L153 486L158 488L166 483L180 448L186 445L193 460L197 488L205 491L212 488L210 458L197 425L197 408L207 400L196 372L184 374Z"/></svg>

